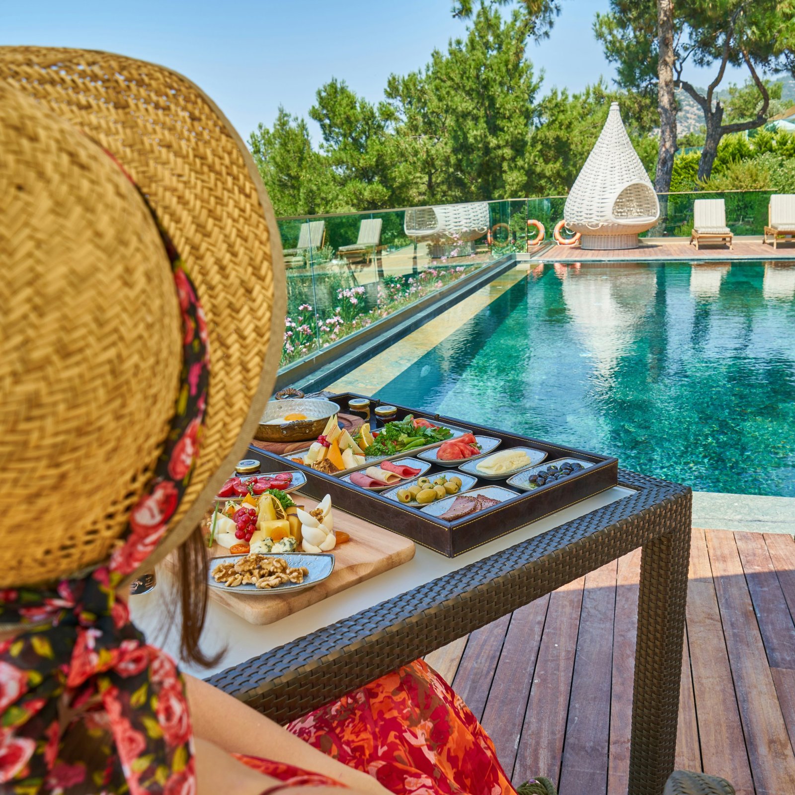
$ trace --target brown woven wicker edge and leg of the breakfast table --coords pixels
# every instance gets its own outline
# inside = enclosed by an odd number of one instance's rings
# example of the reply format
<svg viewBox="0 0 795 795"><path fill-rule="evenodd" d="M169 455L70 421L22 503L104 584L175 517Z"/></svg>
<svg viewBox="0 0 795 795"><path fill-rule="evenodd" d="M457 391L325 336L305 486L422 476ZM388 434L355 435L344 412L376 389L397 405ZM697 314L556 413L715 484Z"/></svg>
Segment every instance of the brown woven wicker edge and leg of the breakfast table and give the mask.
<svg viewBox="0 0 795 795"><path fill-rule="evenodd" d="M662 793L677 739L691 491L623 470L619 485L631 491L209 681L285 722L642 547L629 793Z"/></svg>

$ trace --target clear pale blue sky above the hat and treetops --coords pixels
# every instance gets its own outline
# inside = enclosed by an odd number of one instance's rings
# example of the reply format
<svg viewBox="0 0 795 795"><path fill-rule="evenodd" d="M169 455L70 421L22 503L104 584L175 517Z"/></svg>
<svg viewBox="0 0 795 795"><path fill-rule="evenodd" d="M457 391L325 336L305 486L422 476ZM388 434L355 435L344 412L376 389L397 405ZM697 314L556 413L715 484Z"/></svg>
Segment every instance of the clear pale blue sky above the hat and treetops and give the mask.
<svg viewBox="0 0 795 795"><path fill-rule="evenodd" d="M103 49L153 61L199 85L248 138L278 107L308 118L332 77L371 102L391 73L424 66L434 48L463 36L451 0L0 0L0 43ZM608 0L563 0L551 37L529 45L544 89L580 91L615 70L591 24ZM705 75L692 74L696 84ZM742 82L744 76L728 79ZM313 138L319 130L310 122Z"/></svg>

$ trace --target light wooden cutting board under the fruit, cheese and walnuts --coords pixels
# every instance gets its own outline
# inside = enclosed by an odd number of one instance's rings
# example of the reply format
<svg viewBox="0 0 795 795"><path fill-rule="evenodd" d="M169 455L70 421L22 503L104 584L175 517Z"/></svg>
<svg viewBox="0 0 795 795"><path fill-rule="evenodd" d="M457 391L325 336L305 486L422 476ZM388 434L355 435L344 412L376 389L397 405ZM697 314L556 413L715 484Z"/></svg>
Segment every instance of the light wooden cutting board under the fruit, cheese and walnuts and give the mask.
<svg viewBox="0 0 795 795"><path fill-rule="evenodd" d="M317 501L311 497L304 497L302 494L291 496L304 510L312 510L317 506ZM350 534L351 541L332 549L334 571L322 583L294 594L273 592L267 596L236 594L234 591L210 588L210 599L228 607L250 624L272 624L413 558L414 542L408 538L371 525L370 522L346 514L343 510L332 508L332 512L335 529L345 530ZM228 554L228 549L217 544L209 550L210 557Z"/></svg>

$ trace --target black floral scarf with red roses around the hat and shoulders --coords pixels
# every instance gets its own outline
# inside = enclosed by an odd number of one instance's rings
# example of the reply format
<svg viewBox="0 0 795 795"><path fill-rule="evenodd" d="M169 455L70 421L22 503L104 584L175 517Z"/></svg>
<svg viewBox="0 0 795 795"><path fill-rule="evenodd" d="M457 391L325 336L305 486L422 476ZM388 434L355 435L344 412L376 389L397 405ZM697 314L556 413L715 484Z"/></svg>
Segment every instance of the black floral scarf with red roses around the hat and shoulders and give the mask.
<svg viewBox="0 0 795 795"><path fill-rule="evenodd" d="M204 312L173 243L159 222L157 227L171 262L184 328L176 411L153 480L131 511L123 543L110 562L49 589L0 591L0 623L46 622L0 643L3 793L196 791L182 677L167 654L146 644L130 623L126 603L116 599L122 581L161 541L188 487L207 405ZM60 758L59 703L87 710L74 720L84 721L102 764Z"/></svg>

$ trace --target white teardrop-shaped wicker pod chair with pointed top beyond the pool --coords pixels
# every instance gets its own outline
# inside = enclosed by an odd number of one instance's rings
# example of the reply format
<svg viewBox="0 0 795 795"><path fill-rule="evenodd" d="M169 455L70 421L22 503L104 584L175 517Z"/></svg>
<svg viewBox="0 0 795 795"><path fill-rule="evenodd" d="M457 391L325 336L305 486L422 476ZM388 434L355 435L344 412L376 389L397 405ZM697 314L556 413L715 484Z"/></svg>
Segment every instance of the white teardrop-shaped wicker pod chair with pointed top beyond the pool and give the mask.
<svg viewBox="0 0 795 795"><path fill-rule="evenodd" d="M619 103L611 103L602 133L572 186L566 225L584 249L639 246L638 234L657 223L660 203L626 134Z"/></svg>

